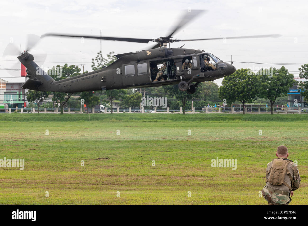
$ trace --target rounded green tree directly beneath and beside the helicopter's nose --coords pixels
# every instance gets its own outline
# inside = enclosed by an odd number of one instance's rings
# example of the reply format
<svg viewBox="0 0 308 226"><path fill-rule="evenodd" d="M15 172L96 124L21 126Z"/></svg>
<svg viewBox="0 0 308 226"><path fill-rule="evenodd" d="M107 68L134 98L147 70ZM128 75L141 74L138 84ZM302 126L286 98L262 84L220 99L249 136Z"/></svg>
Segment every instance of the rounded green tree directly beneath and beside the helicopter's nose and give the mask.
<svg viewBox="0 0 308 226"><path fill-rule="evenodd" d="M224 77L219 87L219 97L226 99L231 104L240 101L243 104L245 114L245 103L251 103L257 95L257 76L249 73L249 69L237 69L232 75Z"/></svg>

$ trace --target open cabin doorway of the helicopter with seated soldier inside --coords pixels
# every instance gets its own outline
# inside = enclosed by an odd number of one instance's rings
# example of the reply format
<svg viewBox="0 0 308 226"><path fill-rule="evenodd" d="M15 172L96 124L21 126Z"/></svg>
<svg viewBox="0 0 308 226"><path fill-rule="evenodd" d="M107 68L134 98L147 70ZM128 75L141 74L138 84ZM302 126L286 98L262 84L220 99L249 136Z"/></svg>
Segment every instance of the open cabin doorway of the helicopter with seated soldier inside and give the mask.
<svg viewBox="0 0 308 226"><path fill-rule="evenodd" d="M163 63L166 63L163 65ZM176 80L176 66L172 59L159 60L150 62L151 80L168 81ZM158 74L159 73L159 74Z"/></svg>

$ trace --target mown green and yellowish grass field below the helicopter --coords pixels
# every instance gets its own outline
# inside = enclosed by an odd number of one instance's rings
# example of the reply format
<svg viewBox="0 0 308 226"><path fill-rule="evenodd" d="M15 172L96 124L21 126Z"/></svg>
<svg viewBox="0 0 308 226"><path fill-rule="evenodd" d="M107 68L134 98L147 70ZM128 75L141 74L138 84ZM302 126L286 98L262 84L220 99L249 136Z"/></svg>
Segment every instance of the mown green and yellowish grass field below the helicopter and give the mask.
<svg viewBox="0 0 308 226"><path fill-rule="evenodd" d="M279 145L302 179L291 204L308 204L306 114L6 113L0 125L0 158L25 159L0 168L0 204L267 204ZM211 167L217 157L237 169Z"/></svg>

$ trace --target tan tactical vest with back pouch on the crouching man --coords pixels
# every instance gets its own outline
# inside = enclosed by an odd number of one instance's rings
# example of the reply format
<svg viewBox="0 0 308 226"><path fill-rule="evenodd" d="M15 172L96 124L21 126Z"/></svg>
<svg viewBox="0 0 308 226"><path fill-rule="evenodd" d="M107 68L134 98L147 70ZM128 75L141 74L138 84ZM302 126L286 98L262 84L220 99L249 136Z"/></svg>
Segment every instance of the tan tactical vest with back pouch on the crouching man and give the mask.
<svg viewBox="0 0 308 226"><path fill-rule="evenodd" d="M273 160L273 165L270 169L270 177L269 179L266 179L266 182L270 182L270 184L273 185L286 185L290 191L292 190L293 185L293 177L291 176L291 173L288 170L288 165L291 160L289 159L281 159L277 158ZM291 161L292 162L292 161ZM285 176L286 174L289 176L291 180L291 187L285 182Z"/></svg>

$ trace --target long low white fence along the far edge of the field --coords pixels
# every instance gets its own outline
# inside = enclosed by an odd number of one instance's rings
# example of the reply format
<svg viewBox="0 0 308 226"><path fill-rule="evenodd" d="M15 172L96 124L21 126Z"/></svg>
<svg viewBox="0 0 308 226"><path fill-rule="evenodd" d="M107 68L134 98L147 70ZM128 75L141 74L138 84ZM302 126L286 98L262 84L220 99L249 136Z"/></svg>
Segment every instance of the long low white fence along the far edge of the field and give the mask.
<svg viewBox="0 0 308 226"><path fill-rule="evenodd" d="M286 108L273 108L274 113L282 113L282 114L302 114L308 113L307 107L286 107ZM22 109L0 109L0 113L38 113L38 109L35 108L22 108ZM39 113L54 113L59 114L59 108L41 108L39 109ZM86 113L84 108L63 108L63 113L66 114L82 114ZM111 109L105 108L101 111L98 108L89 108L88 113L111 113ZM183 113L183 109L180 108L113 108L113 113ZM243 113L242 108L233 108L233 107L205 107L205 108L185 108L185 113L231 113L231 114L238 114ZM264 114L264 113L271 113L270 107L246 107L245 113L251 114Z"/></svg>

